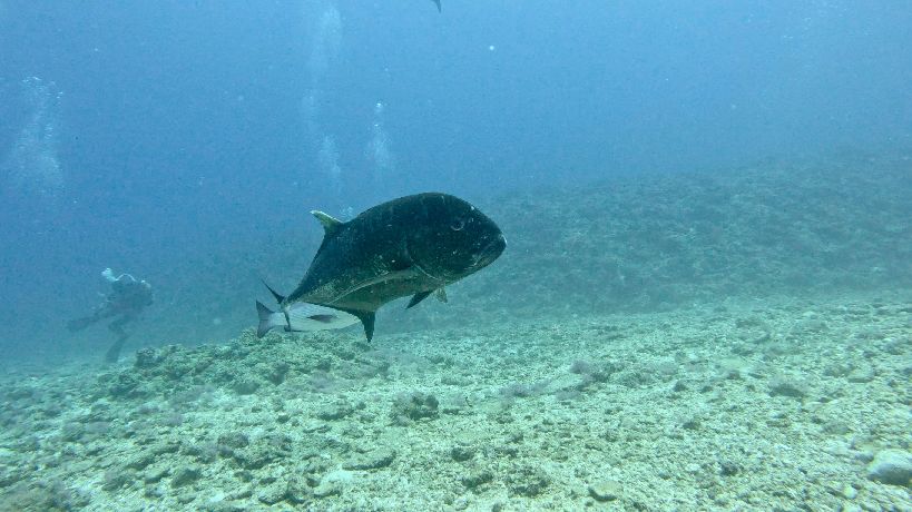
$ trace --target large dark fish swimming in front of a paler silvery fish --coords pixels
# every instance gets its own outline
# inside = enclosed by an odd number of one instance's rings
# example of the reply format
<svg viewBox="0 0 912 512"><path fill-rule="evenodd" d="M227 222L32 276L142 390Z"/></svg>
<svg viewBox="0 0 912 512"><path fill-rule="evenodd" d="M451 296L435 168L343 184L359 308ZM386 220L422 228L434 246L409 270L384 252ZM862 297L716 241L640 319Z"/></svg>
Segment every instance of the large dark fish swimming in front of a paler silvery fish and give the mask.
<svg viewBox="0 0 912 512"><path fill-rule="evenodd" d="M287 297L273 293L286 316L300 303L356 316L367 341L374 313L411 295L412 307L443 286L490 265L507 247L497 224L447 194L418 194L374 206L347 223L312 214L325 235L311 268ZM300 306L297 306L300 307Z"/></svg>

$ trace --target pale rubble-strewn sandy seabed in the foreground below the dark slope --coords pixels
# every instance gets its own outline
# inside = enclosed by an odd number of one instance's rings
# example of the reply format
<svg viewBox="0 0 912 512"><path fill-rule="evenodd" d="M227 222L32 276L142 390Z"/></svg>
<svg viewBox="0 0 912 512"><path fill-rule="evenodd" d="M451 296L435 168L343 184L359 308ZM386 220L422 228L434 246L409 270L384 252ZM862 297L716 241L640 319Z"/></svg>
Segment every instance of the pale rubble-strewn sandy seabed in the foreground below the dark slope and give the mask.
<svg viewBox="0 0 912 512"><path fill-rule="evenodd" d="M100 357L100 354L99 354ZM9 367L0 510L912 510L912 302Z"/></svg>

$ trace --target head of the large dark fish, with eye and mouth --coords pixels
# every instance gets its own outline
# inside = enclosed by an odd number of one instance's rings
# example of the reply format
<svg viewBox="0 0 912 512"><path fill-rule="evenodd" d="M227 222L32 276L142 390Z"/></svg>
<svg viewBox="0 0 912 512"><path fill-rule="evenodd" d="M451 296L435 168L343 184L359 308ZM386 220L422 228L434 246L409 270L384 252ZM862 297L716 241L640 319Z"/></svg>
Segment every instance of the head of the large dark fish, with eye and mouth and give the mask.
<svg viewBox="0 0 912 512"><path fill-rule="evenodd" d="M493 263L507 248L500 227L471 204L428 194L406 238L412 262L429 276L452 283Z"/></svg>

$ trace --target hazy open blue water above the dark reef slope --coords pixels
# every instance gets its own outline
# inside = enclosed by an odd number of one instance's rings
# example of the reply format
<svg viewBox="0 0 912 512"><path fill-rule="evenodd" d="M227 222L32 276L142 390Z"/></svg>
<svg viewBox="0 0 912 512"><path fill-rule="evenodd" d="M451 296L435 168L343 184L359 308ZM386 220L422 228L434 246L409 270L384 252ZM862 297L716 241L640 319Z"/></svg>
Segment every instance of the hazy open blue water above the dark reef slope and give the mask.
<svg viewBox="0 0 912 512"><path fill-rule="evenodd" d="M62 325L106 266L155 285L137 344L235 335L257 276L303 274L312 208L903 154L910 26L901 1L0 0L0 344L100 356Z"/></svg>

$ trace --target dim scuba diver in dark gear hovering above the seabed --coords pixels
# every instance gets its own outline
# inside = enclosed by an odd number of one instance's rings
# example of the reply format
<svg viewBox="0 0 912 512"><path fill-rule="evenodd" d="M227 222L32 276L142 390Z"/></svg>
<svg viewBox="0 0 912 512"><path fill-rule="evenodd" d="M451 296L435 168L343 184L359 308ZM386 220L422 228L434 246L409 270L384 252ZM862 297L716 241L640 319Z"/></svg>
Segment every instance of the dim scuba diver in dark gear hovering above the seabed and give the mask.
<svg viewBox="0 0 912 512"><path fill-rule="evenodd" d="M110 283L111 292L105 295L105 302L99 304L91 315L67 322L67 328L76 333L96 322L117 317L108 324L108 328L117 335L117 339L105 354L106 363L116 363L120 357L120 348L130 336L124 331L124 326L135 321L143 309L153 303L151 285L145 280L137 280L129 274L115 277L110 268L105 268L101 276Z"/></svg>

